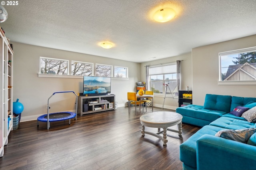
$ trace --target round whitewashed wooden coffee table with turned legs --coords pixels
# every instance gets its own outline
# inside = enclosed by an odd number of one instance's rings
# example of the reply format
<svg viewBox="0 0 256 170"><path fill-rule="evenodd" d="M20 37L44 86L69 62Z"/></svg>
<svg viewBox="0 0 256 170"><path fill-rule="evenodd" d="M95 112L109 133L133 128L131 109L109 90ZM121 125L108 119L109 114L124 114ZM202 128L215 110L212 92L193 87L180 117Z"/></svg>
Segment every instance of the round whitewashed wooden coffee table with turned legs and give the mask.
<svg viewBox="0 0 256 170"><path fill-rule="evenodd" d="M175 113L175 112L152 112L148 113L146 115L142 115L140 117L140 123L142 124L142 136L145 136L146 134L150 134L153 136L156 136L157 138L161 139L164 142L164 145L168 142L166 139L166 132L167 130L172 132L178 132L179 136L181 136L182 133L182 115ZM174 125L178 125L178 130L174 130L168 127L172 127ZM163 128L163 130L153 133L149 131L145 131L146 127L152 127L152 128ZM160 136L159 134L163 133L163 136Z"/></svg>

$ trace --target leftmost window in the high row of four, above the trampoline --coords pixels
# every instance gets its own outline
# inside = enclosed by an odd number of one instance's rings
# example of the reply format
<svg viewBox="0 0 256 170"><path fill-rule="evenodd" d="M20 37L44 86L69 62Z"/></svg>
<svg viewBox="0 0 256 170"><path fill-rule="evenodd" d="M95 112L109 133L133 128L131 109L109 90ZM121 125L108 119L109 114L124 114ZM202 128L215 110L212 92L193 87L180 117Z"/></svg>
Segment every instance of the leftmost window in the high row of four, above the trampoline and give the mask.
<svg viewBox="0 0 256 170"><path fill-rule="evenodd" d="M40 73L68 75L68 60L40 57Z"/></svg>

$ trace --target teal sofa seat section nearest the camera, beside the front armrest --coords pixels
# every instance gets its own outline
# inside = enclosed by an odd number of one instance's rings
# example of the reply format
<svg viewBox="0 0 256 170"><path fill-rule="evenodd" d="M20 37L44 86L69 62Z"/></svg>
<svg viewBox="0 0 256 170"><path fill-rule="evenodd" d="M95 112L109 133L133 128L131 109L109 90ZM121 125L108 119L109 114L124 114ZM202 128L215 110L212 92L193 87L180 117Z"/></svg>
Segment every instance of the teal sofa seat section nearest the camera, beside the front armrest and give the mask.
<svg viewBox="0 0 256 170"><path fill-rule="evenodd" d="M196 168L196 140L204 134L210 134L214 136L216 132L223 130L224 128L214 127L206 125L198 130L195 134L190 136L188 140L180 144L180 160L193 168Z"/></svg>

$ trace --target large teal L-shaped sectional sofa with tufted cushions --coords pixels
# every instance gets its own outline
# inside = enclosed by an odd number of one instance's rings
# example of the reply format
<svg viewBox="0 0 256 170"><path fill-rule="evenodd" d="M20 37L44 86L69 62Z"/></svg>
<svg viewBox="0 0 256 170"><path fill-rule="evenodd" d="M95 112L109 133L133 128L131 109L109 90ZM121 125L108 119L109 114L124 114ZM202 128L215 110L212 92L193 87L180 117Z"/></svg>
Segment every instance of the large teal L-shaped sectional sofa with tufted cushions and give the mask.
<svg viewBox="0 0 256 170"><path fill-rule="evenodd" d="M256 131L254 122L230 114L238 106L254 109L256 98L207 94L204 106L177 108L185 123L203 126L180 145L184 170L256 169L256 133L246 143L215 136L220 130L253 128Z"/></svg>

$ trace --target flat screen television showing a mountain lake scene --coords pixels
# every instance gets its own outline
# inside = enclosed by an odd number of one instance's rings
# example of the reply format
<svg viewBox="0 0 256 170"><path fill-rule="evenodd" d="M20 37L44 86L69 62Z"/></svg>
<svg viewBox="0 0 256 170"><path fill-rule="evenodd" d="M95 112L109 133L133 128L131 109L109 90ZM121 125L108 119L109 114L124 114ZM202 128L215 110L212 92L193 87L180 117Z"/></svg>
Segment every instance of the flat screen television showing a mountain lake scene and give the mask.
<svg viewBox="0 0 256 170"><path fill-rule="evenodd" d="M111 93L111 77L84 76L84 95L107 95Z"/></svg>

